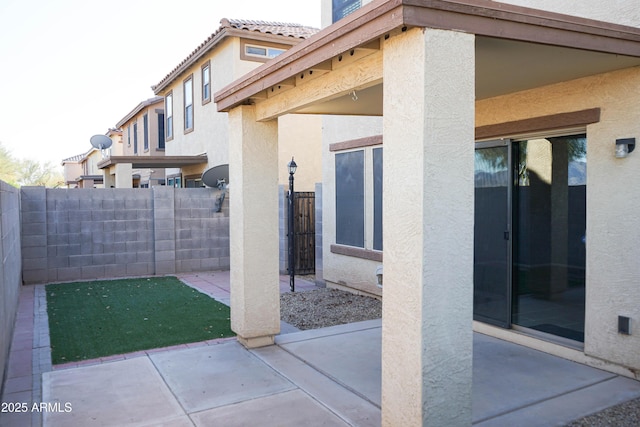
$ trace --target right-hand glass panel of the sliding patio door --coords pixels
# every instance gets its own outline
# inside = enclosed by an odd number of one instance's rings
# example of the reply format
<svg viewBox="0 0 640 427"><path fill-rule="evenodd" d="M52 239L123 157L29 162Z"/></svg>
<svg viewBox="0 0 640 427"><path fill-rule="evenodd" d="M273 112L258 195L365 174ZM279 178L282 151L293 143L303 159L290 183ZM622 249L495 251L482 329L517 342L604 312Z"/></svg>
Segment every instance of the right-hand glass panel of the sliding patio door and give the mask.
<svg viewBox="0 0 640 427"><path fill-rule="evenodd" d="M513 324L584 341L587 140L515 144Z"/></svg>

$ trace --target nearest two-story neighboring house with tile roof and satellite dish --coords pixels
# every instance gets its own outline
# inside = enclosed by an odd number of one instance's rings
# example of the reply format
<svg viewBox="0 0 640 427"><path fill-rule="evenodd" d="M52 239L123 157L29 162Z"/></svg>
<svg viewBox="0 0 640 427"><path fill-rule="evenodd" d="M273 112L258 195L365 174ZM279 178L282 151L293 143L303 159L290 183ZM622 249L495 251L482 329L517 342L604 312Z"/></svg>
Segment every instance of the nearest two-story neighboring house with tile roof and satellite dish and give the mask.
<svg viewBox="0 0 640 427"><path fill-rule="evenodd" d="M317 31L298 24L222 19L215 33L153 86L164 98L166 155L206 155L197 164L167 166L167 185L203 186L203 172L230 163L227 115L217 112L212 94ZM286 164L295 157L296 190L314 191L321 180L321 118L284 118L278 135L279 182L287 184Z"/></svg>

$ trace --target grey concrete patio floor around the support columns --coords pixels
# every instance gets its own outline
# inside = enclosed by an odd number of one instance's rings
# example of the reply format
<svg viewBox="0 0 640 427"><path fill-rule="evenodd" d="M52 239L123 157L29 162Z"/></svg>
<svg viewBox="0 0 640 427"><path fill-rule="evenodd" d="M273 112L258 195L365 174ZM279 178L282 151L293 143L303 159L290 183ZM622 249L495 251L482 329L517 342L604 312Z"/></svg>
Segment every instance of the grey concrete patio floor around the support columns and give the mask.
<svg viewBox="0 0 640 427"><path fill-rule="evenodd" d="M228 302L228 272L181 278ZM299 291L314 288L296 284ZM281 290L288 290L287 277ZM51 369L38 330L46 326L38 314L42 293L32 292L31 300L33 372L17 366L12 352L2 401L50 405L39 413L0 414L2 426L380 425L380 320L311 331L287 327L276 345L254 350L235 339L213 340ZM25 295L21 305L29 306ZM19 315L16 333L28 324ZM563 425L640 397L638 381L478 333L473 363L478 426Z"/></svg>

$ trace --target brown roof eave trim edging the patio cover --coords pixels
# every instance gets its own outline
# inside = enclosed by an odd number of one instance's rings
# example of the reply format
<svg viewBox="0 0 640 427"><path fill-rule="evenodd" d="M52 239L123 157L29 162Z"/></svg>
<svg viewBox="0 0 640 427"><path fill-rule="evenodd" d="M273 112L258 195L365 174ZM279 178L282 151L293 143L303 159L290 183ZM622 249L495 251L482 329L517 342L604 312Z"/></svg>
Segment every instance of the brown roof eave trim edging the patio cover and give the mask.
<svg viewBox="0 0 640 427"><path fill-rule="evenodd" d="M640 29L489 0L373 1L214 94L218 111L373 39L409 27L640 57Z"/></svg>

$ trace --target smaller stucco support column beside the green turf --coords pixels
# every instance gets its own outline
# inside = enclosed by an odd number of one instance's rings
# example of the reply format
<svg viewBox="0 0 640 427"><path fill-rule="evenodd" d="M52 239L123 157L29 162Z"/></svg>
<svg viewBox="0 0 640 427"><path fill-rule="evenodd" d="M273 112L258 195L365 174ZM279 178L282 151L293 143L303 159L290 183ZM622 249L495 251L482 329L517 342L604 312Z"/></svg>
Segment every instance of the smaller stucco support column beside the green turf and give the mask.
<svg viewBox="0 0 640 427"><path fill-rule="evenodd" d="M231 329L246 347L280 332L278 122L253 106L229 112Z"/></svg>

